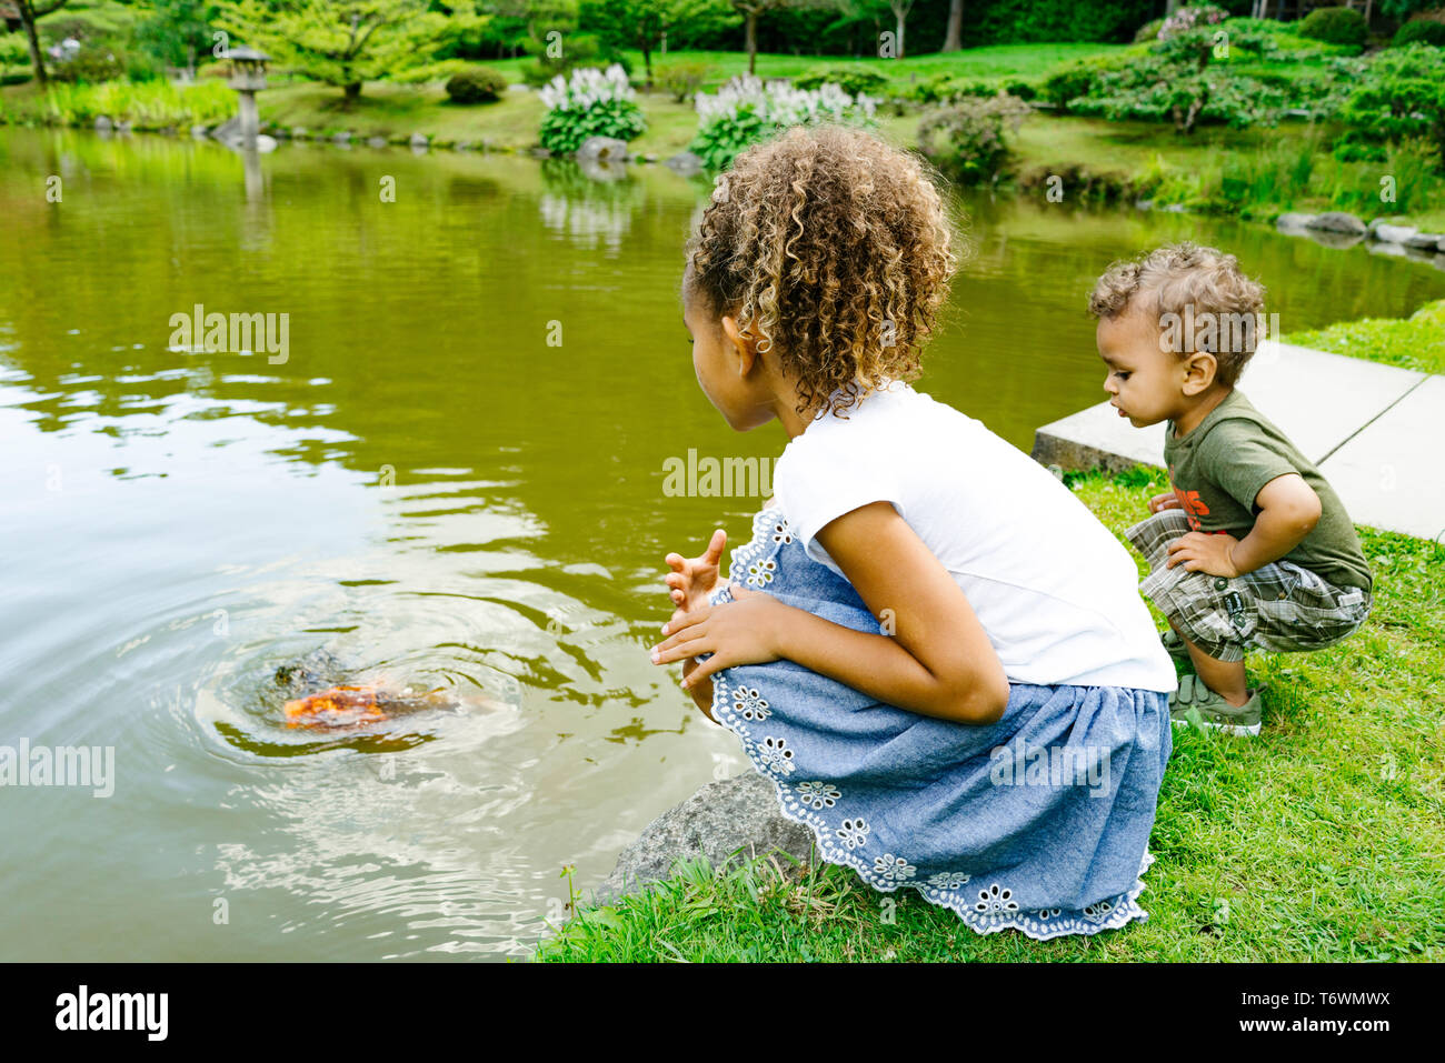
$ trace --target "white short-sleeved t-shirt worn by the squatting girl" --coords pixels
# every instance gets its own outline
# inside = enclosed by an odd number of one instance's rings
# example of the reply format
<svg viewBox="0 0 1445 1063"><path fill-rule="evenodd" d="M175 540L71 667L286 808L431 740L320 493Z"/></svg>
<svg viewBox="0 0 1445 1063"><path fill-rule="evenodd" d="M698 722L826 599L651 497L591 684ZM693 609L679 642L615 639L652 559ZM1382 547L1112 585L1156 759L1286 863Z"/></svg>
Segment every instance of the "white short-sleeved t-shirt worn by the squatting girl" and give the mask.
<svg viewBox="0 0 1445 1063"><path fill-rule="evenodd" d="M1134 560L1053 474L905 381L845 415L809 423L773 468L811 557L844 575L818 530L892 503L962 588L1010 682L1175 690Z"/></svg>

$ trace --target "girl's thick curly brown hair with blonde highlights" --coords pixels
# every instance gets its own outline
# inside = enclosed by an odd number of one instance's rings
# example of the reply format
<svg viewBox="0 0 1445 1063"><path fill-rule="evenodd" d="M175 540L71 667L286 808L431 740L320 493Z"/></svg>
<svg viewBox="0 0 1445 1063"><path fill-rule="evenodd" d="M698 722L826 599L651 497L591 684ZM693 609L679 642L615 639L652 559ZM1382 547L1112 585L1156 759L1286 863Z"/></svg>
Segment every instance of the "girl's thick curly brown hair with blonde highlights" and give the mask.
<svg viewBox="0 0 1445 1063"><path fill-rule="evenodd" d="M913 380L958 267L929 165L841 126L743 152L688 243L683 298L733 313L798 383L798 413Z"/></svg>

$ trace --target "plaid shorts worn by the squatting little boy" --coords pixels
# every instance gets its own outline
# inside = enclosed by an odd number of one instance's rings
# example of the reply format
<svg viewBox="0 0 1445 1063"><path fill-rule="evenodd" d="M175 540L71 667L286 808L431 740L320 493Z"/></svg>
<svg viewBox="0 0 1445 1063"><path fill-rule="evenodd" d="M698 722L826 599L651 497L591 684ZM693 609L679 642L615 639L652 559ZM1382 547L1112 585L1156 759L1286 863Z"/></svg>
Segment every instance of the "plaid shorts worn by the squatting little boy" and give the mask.
<svg viewBox="0 0 1445 1063"><path fill-rule="evenodd" d="M1181 635L1215 660L1244 660L1246 647L1276 653L1322 650L1364 624L1371 595L1335 586L1287 560L1227 579L1165 568L1169 543L1191 532L1182 510L1160 510L1124 534L1149 562L1139 589Z"/></svg>

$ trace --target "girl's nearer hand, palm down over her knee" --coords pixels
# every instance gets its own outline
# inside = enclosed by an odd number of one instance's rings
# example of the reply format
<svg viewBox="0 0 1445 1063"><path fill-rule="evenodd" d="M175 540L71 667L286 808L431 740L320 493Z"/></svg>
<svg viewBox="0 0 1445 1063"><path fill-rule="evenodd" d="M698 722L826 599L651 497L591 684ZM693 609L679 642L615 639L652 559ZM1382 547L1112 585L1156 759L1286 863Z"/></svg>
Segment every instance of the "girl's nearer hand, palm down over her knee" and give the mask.
<svg viewBox="0 0 1445 1063"><path fill-rule="evenodd" d="M734 664L764 664L782 657L782 633L790 605L769 594L733 585L733 601L705 605L668 621L668 638L652 647L653 664L670 664L702 653L712 656L688 673L683 687L691 687L720 669Z"/></svg>

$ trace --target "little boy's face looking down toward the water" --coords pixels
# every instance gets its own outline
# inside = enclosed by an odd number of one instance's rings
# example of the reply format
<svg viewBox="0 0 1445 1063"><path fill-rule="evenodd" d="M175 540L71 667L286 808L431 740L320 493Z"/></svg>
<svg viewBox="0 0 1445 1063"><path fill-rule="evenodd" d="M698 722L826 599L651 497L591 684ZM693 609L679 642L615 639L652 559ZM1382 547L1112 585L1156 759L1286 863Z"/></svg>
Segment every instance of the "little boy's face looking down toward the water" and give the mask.
<svg viewBox="0 0 1445 1063"><path fill-rule="evenodd" d="M1159 335L1153 316L1133 308L1098 319L1095 339L1108 367L1104 377L1108 404L1134 428L1176 420L1195 390L1189 386L1194 360L1160 351Z"/></svg>

